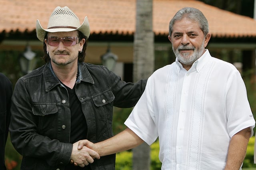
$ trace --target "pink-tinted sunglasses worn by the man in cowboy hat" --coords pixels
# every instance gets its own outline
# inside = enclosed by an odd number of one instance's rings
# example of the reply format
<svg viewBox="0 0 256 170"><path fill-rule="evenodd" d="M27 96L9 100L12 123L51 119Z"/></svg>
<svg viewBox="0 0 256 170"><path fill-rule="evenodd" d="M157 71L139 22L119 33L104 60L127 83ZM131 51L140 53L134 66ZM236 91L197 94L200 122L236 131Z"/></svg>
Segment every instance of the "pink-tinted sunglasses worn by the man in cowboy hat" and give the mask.
<svg viewBox="0 0 256 170"><path fill-rule="evenodd" d="M60 42L63 43L65 46L71 46L71 45L76 45L77 43L80 42L80 38L78 37L64 37L64 38L57 38L57 37L48 37L47 42L51 46L58 46Z"/></svg>

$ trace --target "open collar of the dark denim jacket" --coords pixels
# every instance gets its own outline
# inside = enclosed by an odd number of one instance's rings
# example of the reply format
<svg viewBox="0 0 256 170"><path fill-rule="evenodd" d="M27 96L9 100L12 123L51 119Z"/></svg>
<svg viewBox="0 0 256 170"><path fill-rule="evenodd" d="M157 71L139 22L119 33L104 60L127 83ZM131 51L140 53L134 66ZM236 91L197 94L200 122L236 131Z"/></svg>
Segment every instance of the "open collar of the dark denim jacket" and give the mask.
<svg viewBox="0 0 256 170"><path fill-rule="evenodd" d="M46 63L43 69L43 76L46 92L61 84L59 79L56 77L50 62ZM83 62L78 62L78 79L76 83L80 83L81 81L94 84L94 80L89 73L86 65Z"/></svg>

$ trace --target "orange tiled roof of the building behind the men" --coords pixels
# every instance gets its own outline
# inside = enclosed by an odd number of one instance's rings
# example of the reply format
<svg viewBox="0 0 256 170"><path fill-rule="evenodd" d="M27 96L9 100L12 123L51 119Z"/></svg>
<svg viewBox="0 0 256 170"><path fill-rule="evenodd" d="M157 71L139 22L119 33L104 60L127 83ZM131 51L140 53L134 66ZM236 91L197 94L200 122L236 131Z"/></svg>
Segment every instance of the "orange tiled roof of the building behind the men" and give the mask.
<svg viewBox="0 0 256 170"><path fill-rule="evenodd" d="M80 22L88 16L91 34L133 34L135 29L136 0L0 0L0 4L0 32L32 31L37 19L46 28L56 6L68 6ZM212 37L256 37L256 20L196 0L153 0L155 34L168 35L170 19L185 6L204 13Z"/></svg>

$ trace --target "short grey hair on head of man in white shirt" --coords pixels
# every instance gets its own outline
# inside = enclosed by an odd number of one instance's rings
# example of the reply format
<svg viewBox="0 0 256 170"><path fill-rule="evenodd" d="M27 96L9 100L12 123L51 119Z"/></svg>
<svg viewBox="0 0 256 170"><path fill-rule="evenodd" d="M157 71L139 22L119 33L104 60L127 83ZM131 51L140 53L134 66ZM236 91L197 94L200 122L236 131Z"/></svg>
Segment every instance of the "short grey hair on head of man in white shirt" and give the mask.
<svg viewBox="0 0 256 170"><path fill-rule="evenodd" d="M170 24L169 24L169 36L172 35L174 23L176 21L178 21L178 20L182 20L183 18L187 18L189 20L198 22L200 29L204 33L204 36L206 36L208 34L209 26L208 26L208 21L205 18L204 14L200 10L198 10L196 8L185 7L185 8L182 8L181 10L179 10L174 15L172 20L170 21Z"/></svg>

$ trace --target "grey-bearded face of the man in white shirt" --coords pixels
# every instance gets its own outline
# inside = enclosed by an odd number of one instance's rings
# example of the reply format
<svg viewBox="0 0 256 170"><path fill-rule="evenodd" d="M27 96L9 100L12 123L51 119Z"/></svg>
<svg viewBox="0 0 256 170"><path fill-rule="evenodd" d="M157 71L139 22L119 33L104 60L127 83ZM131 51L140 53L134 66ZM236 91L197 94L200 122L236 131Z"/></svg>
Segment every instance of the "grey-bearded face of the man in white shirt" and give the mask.
<svg viewBox="0 0 256 170"><path fill-rule="evenodd" d="M168 39L178 61L192 65L204 53L210 34L204 36L198 22L183 18L174 23L172 35Z"/></svg>

